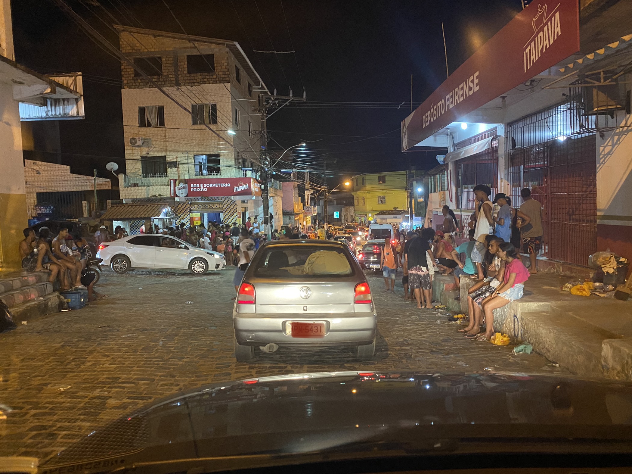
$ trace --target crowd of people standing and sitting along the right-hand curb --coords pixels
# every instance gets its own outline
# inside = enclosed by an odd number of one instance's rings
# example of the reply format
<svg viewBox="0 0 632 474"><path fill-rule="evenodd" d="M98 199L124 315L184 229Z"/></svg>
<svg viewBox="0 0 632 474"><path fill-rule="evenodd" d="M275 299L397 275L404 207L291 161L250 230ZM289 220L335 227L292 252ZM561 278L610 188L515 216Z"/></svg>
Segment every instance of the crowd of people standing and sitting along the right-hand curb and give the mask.
<svg viewBox="0 0 632 474"><path fill-rule="evenodd" d="M497 193L492 201L490 193L486 185L474 188L476 206L468 223L468 241L456 246L459 222L444 206L439 229L401 232L396 244L386 239L380 262L386 291L394 291L395 273L402 267L404 298L416 301L420 309L433 308L434 269L453 275L456 288L460 288L461 278L473 279L476 283L468 289L470 320L460 331L478 341L489 341L494 334L495 309L522 298L525 282L537 273L543 234L541 205L528 188L521 190L520 209L511 207L506 194ZM494 214L495 204L499 209ZM529 269L520 251L529 255Z"/></svg>

